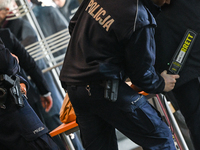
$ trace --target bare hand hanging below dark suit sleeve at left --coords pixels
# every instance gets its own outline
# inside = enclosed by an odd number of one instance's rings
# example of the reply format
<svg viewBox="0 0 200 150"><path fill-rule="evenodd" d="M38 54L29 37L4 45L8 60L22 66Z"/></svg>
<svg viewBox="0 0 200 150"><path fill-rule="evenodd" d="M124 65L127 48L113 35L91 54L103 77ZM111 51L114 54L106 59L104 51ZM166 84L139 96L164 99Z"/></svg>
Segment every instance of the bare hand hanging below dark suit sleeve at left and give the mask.
<svg viewBox="0 0 200 150"><path fill-rule="evenodd" d="M41 103L42 103L42 107L45 109L46 112L49 112L51 107L53 106L53 100L51 95L47 96L47 97L40 97L41 99Z"/></svg>

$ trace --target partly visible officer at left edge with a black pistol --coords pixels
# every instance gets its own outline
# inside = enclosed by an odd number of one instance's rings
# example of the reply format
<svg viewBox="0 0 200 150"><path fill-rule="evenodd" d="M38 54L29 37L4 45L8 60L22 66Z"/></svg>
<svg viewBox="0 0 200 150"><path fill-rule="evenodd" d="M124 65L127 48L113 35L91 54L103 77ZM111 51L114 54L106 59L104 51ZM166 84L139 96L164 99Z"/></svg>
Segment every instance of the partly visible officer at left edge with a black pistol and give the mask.
<svg viewBox="0 0 200 150"><path fill-rule="evenodd" d="M17 57L13 57L8 49L5 48L0 39L0 74L15 76L19 70ZM2 79L2 78L1 78ZM21 82L26 84L23 78ZM21 105L14 103L4 80L1 81L1 108L0 108L0 149L29 149L29 150L58 150L58 146L54 143L48 134L47 128L39 120L35 112L29 106L23 97ZM26 85L27 87L28 85ZM7 97L4 97L7 95ZM5 101L2 101L5 98Z"/></svg>

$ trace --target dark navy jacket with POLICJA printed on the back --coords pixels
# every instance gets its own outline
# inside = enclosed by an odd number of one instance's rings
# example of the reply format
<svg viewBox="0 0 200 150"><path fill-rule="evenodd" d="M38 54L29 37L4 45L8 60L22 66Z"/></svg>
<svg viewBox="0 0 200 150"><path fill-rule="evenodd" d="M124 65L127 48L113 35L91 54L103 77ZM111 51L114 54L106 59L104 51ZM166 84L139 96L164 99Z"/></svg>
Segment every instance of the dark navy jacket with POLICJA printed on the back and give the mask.
<svg viewBox="0 0 200 150"><path fill-rule="evenodd" d="M152 4L153 5L153 4ZM164 89L155 72L156 22L141 0L84 0L70 21L71 40L60 79L79 84L124 72L149 93Z"/></svg>

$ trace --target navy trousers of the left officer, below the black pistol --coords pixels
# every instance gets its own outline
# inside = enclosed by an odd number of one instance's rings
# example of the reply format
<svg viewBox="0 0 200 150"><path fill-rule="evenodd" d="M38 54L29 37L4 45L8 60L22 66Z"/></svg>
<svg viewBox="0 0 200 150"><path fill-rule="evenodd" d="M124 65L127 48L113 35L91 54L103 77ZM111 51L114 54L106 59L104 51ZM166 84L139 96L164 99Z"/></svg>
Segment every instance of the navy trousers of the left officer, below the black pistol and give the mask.
<svg viewBox="0 0 200 150"><path fill-rule="evenodd" d="M24 99L18 108L8 99L6 109L0 108L1 150L58 150L47 128Z"/></svg>

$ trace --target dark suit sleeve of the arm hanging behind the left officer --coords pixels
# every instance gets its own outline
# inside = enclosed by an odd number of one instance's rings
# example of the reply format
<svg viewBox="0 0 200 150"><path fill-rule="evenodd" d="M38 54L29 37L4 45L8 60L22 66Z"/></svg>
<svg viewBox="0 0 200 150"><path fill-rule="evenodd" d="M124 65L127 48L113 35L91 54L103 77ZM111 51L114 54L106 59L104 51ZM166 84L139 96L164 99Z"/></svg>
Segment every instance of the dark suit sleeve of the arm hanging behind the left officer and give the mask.
<svg viewBox="0 0 200 150"><path fill-rule="evenodd" d="M0 29L0 38L4 42L6 48L10 50L11 53L15 54L19 58L19 65L21 68L20 75L25 78L27 81L27 75L30 75L33 82L37 85L38 90L41 94L46 94L49 92L48 86L46 84L46 80L36 65L33 58L28 54L28 52L24 49L22 44L16 39L16 37L10 32L9 29ZM32 84L29 82L29 84ZM31 86L30 86L31 87ZM28 93L29 94L29 93ZM34 99L37 101L38 99ZM29 100L29 103L34 103L35 101Z"/></svg>

